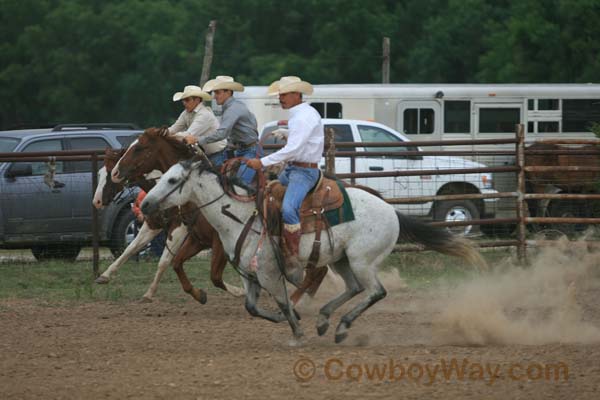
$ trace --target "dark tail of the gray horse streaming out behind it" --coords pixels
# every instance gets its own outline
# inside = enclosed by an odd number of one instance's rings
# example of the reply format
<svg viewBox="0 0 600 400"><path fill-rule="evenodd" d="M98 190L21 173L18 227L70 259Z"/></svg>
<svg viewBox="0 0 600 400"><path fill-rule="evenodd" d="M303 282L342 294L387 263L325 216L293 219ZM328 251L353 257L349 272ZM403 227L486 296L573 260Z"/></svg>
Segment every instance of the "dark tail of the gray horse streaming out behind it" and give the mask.
<svg viewBox="0 0 600 400"><path fill-rule="evenodd" d="M466 260L479 269L487 269L487 262L479 251L465 238L452 235L446 229L438 228L396 211L400 232L398 242L419 243L426 249Z"/></svg>

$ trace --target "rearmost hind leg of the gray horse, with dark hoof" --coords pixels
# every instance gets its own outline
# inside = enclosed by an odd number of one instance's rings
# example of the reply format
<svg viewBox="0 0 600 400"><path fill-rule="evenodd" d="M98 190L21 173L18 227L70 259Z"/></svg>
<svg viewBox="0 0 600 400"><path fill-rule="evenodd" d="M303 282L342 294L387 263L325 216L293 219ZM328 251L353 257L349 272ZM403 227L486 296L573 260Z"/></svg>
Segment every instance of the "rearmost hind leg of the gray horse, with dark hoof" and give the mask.
<svg viewBox="0 0 600 400"><path fill-rule="evenodd" d="M363 260L364 261L364 260ZM351 262L351 268L358 283L365 288L367 298L357 304L352 310L342 316L340 323L335 330L335 342L340 343L348 337L348 329L352 322L358 318L366 309L383 299L387 292L377 279L377 266L379 263L356 263ZM359 267L357 267L359 266Z"/></svg>

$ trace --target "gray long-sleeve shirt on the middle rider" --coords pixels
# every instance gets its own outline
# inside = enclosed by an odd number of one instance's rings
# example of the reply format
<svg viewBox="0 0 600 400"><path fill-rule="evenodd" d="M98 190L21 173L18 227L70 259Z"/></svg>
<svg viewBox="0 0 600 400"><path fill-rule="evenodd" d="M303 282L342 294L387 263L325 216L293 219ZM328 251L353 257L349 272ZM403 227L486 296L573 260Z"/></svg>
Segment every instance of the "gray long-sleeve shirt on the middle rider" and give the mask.
<svg viewBox="0 0 600 400"><path fill-rule="evenodd" d="M225 138L230 145L248 145L258 140L256 117L242 101L234 97L230 97L223 104L223 116L219 129L201 137L198 143L204 145Z"/></svg>

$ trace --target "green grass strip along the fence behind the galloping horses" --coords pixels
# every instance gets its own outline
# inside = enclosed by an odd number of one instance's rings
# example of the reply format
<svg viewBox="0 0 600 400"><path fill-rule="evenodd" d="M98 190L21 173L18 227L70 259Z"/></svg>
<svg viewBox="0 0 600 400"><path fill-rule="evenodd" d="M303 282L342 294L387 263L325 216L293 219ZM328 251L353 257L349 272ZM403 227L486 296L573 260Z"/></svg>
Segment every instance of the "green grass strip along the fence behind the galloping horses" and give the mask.
<svg viewBox="0 0 600 400"><path fill-rule="evenodd" d="M508 249L483 253L490 265L510 255ZM111 261L100 263L100 272ZM198 288L208 293L218 293L210 281L210 261L194 257L185 264L185 271ZM0 264L0 299L37 299L42 303L62 302L130 302L137 301L148 289L156 273L157 261L129 261L123 265L107 285L94 283L91 261L65 263L62 261L2 263ZM440 282L459 282L476 273L462 260L435 252L393 253L383 269L398 270L400 276L412 288L427 288ZM237 272L228 265L224 280L241 286ZM181 289L176 274L169 267L165 271L157 292L161 301L181 303L189 295Z"/></svg>

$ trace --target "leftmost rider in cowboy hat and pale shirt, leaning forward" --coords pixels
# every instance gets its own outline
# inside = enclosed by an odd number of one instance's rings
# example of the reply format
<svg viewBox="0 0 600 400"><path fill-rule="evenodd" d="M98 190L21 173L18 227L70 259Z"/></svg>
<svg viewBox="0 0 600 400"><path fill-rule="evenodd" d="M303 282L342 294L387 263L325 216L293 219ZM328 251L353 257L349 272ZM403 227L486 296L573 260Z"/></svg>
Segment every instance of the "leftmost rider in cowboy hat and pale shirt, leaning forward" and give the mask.
<svg viewBox="0 0 600 400"><path fill-rule="evenodd" d="M219 121L213 114L212 109L205 107L203 104L203 101L210 101L211 99L210 94L193 85L186 86L183 92L175 93L173 101L181 100L185 110L179 115L177 121L169 127L169 133L181 138L185 143L192 144L217 129ZM226 140L203 145L204 151L215 166L223 164L223 151L226 145Z"/></svg>

